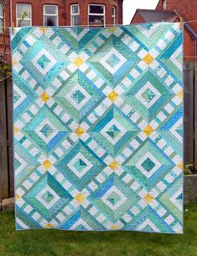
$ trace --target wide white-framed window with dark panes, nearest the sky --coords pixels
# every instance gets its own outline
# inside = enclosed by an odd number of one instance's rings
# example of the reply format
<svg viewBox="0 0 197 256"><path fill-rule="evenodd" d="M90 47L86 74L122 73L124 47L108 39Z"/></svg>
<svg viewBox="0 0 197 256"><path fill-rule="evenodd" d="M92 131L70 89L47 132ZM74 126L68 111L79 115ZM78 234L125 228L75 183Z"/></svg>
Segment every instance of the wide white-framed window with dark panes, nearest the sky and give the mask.
<svg viewBox="0 0 197 256"><path fill-rule="evenodd" d="M104 27L105 20L105 5L103 4L90 4L88 6L88 24L89 26Z"/></svg>

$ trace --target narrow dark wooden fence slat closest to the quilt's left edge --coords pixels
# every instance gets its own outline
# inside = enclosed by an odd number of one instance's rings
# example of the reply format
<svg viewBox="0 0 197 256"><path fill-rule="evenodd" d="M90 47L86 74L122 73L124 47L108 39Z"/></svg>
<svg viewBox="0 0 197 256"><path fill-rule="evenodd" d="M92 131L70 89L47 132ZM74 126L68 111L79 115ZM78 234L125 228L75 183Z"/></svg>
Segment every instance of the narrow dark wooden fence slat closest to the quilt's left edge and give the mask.
<svg viewBox="0 0 197 256"><path fill-rule="evenodd" d="M8 176L9 196L13 197L13 83L7 79Z"/></svg>

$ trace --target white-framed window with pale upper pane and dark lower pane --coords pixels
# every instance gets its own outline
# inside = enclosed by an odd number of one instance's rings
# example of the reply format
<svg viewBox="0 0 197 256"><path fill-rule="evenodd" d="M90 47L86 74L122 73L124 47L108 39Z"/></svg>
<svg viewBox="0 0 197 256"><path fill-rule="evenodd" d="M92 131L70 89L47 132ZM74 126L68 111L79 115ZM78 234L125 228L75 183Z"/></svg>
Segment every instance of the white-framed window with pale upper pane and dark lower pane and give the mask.
<svg viewBox="0 0 197 256"><path fill-rule="evenodd" d="M58 26L58 6L44 5L44 26Z"/></svg>

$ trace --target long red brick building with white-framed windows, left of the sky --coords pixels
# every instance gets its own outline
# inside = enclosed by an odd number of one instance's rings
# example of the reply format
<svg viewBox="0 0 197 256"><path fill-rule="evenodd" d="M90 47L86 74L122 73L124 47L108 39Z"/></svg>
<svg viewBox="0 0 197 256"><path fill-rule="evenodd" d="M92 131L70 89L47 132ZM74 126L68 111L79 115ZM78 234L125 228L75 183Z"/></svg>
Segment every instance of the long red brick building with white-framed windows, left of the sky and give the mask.
<svg viewBox="0 0 197 256"><path fill-rule="evenodd" d="M107 26L122 24L123 0L0 0L0 26ZM0 34L1 37L1 34ZM6 36L8 45L8 29ZM9 54L9 47L0 55ZM4 47L5 48L5 47Z"/></svg>

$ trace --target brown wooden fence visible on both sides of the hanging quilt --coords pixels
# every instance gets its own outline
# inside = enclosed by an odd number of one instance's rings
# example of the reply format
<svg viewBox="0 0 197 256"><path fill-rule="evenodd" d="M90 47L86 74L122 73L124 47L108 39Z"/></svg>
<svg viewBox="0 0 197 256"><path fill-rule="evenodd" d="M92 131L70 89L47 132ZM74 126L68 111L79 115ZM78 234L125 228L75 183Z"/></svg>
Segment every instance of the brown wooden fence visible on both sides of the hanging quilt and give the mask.
<svg viewBox="0 0 197 256"><path fill-rule="evenodd" d="M197 61L184 63L184 164L197 168ZM0 83L0 200L13 196L13 86Z"/></svg>

